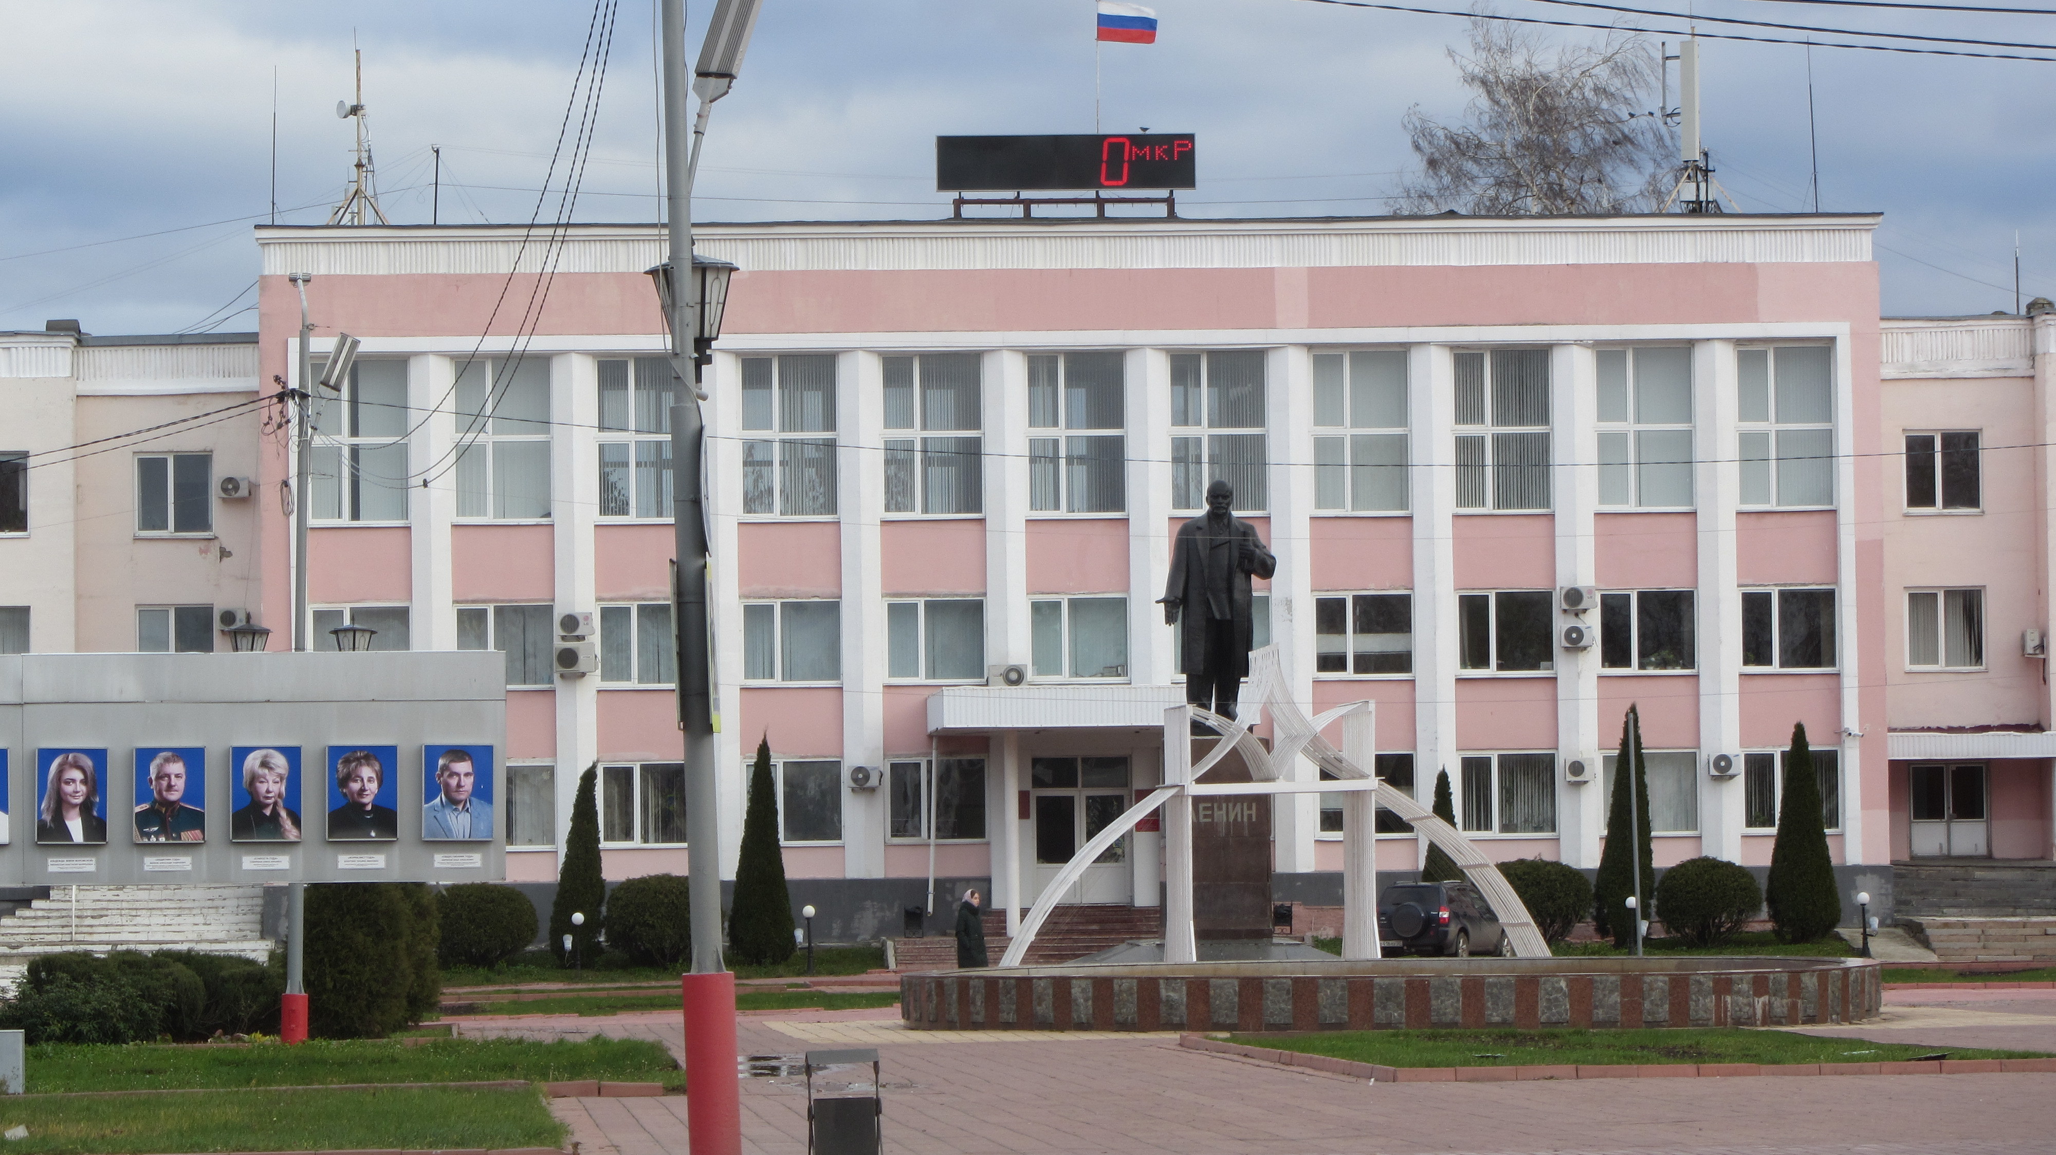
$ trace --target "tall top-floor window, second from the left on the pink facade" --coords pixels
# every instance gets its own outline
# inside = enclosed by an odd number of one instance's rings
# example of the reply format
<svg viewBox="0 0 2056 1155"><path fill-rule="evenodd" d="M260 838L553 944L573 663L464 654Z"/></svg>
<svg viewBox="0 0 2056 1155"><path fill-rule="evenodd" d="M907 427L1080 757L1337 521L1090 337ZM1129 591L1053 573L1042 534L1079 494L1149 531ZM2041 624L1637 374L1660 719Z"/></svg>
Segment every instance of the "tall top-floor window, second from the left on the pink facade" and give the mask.
<svg viewBox="0 0 2056 1155"><path fill-rule="evenodd" d="M481 358L456 372L456 516L549 516L549 358Z"/></svg>

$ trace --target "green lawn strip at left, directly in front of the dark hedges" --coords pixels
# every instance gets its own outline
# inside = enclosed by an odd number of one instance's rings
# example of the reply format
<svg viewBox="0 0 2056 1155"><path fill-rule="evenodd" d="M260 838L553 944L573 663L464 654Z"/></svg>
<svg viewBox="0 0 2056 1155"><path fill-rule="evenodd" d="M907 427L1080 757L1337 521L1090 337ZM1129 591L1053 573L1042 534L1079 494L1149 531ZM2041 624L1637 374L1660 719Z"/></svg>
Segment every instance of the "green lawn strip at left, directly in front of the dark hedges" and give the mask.
<svg viewBox="0 0 2056 1155"><path fill-rule="evenodd" d="M672 1001L676 1003L676 999ZM397 1040L313 1040L300 1046L265 1042L255 1046L45 1044L29 1048L29 1089L39 1093L313 1087L325 1083L481 1083L491 1079L681 1083L685 1073L656 1042L627 1038L586 1042L450 1038L415 1046ZM160 1147L158 1151L206 1149Z"/></svg>

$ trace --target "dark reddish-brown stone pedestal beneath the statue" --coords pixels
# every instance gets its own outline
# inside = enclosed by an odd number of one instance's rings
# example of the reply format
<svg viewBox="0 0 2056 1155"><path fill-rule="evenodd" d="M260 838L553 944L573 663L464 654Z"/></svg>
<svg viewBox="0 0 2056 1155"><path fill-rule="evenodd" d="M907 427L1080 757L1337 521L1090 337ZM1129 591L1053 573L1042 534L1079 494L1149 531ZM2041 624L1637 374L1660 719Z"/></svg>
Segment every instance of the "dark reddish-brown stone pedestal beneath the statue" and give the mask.
<svg viewBox="0 0 2056 1155"><path fill-rule="evenodd" d="M1192 762L1221 740L1195 738ZM1227 752L1203 785L1246 783L1242 754ZM1201 795L1192 808L1192 937L1197 941L1271 939L1271 795Z"/></svg>

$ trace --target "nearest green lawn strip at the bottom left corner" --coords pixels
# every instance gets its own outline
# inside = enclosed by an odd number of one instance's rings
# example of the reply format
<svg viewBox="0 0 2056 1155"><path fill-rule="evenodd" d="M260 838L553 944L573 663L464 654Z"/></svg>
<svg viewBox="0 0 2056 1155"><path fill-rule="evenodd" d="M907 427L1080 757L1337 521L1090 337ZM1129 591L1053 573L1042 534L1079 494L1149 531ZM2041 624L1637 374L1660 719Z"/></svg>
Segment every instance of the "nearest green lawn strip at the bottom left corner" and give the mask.
<svg viewBox="0 0 2056 1155"><path fill-rule="evenodd" d="M284 1048L267 1048L284 1050ZM29 1060L35 1079L35 1060ZM0 1128L27 1126L8 1155L561 1147L537 1091L395 1087L0 1100Z"/></svg>

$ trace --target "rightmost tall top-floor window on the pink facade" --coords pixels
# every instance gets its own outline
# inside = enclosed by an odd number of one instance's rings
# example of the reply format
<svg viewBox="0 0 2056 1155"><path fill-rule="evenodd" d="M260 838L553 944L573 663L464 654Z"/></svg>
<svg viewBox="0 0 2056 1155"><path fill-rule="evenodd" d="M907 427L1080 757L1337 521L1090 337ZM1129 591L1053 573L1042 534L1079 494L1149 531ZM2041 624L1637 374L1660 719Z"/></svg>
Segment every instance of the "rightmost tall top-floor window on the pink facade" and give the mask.
<svg viewBox="0 0 2056 1155"><path fill-rule="evenodd" d="M1735 351L1743 506L1834 506L1834 349Z"/></svg>

